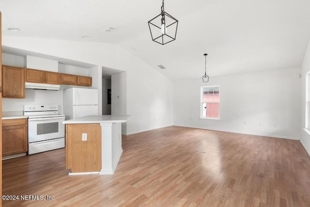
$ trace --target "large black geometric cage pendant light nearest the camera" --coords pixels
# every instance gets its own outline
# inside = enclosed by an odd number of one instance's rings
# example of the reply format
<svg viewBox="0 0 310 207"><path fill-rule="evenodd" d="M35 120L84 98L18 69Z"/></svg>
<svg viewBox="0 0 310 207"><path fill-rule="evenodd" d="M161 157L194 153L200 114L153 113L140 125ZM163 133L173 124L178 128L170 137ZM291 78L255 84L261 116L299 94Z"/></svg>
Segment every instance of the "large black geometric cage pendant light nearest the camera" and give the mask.
<svg viewBox="0 0 310 207"><path fill-rule="evenodd" d="M165 45L176 37L178 20L164 11L164 0L161 6L161 13L148 21L152 40Z"/></svg>

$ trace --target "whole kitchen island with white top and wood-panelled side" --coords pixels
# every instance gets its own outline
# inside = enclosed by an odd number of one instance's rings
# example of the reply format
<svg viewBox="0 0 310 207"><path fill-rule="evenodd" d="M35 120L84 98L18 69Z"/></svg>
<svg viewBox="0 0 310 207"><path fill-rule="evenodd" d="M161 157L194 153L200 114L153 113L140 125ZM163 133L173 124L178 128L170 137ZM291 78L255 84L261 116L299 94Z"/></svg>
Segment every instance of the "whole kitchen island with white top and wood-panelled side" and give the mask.
<svg viewBox="0 0 310 207"><path fill-rule="evenodd" d="M122 123L130 115L92 115L65 120L69 175L114 174L122 155Z"/></svg>

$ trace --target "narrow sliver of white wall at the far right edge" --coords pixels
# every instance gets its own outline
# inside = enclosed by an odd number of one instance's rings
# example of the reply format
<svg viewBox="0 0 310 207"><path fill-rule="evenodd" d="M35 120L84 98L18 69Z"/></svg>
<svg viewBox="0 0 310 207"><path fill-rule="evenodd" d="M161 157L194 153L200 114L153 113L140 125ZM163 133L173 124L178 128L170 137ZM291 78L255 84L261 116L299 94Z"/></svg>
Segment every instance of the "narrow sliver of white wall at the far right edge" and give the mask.
<svg viewBox="0 0 310 207"><path fill-rule="evenodd" d="M308 154L310 155L310 132L304 130L306 127L306 116L309 116L309 109L306 112L306 74L310 72L310 41L308 44L308 48L302 63L302 87L301 87L301 139L300 142L304 145ZM308 95L309 96L309 95ZM308 127L308 126L307 126Z"/></svg>

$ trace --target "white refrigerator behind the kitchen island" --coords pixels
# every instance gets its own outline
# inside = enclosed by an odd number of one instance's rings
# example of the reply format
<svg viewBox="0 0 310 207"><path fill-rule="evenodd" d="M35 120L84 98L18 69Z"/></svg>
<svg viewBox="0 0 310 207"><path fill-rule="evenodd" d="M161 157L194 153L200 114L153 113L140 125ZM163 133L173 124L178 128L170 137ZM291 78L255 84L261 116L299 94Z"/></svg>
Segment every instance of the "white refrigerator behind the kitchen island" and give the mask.
<svg viewBox="0 0 310 207"><path fill-rule="evenodd" d="M69 88L63 91L65 120L99 114L98 89Z"/></svg>

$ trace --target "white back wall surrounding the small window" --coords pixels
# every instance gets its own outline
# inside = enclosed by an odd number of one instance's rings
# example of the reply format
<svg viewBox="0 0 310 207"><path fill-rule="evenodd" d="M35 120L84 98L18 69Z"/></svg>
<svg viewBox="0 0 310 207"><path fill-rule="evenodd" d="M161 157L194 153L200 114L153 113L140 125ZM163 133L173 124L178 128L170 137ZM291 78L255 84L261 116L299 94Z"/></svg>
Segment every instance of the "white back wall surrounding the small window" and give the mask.
<svg viewBox="0 0 310 207"><path fill-rule="evenodd" d="M211 77L208 83L176 81L174 125L299 140L300 73L292 68ZM203 85L220 85L220 120L200 119Z"/></svg>

